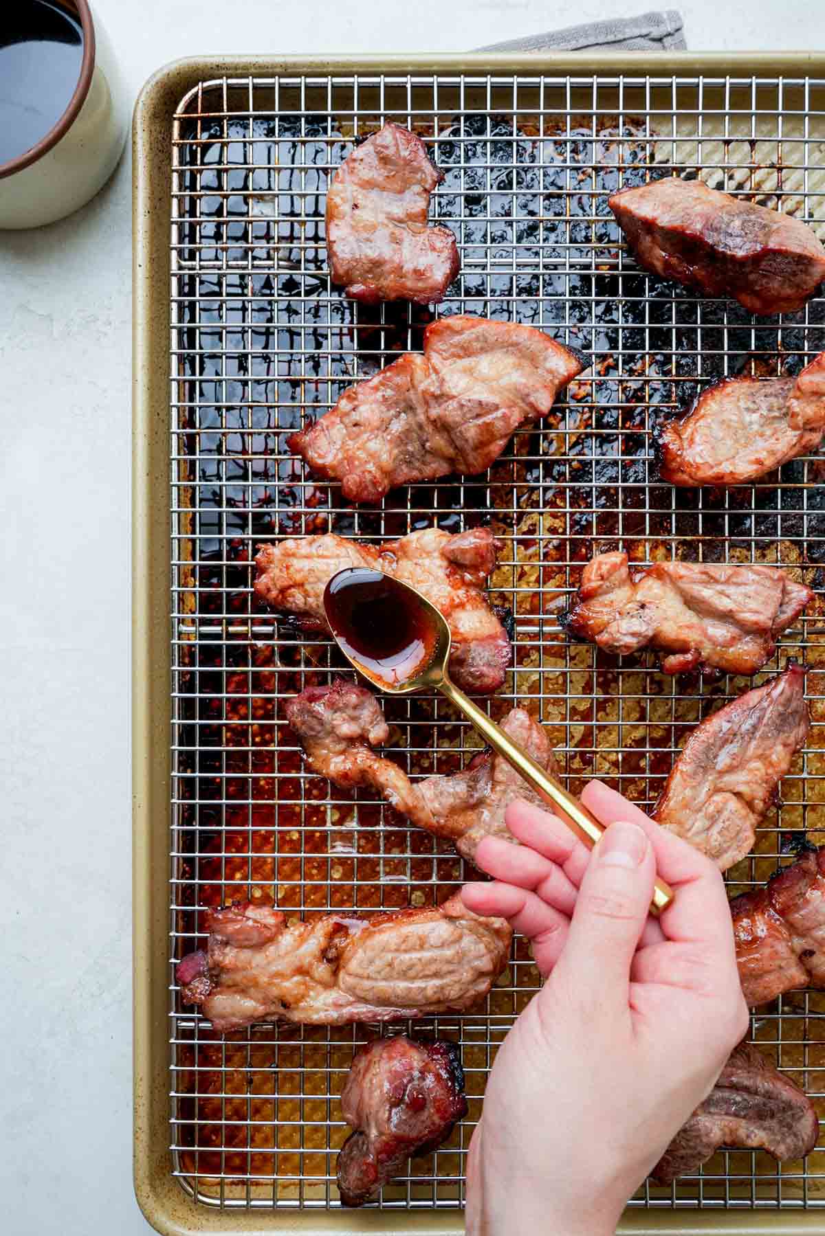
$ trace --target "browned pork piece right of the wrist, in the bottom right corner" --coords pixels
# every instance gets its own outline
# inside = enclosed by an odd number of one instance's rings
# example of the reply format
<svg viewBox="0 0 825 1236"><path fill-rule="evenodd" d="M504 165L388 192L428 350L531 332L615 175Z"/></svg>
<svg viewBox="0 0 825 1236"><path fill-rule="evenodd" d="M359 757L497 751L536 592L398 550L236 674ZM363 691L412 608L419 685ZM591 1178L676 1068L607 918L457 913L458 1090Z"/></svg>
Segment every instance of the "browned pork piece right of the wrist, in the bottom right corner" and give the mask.
<svg viewBox="0 0 825 1236"><path fill-rule="evenodd" d="M819 1137L810 1099L753 1043L731 1052L719 1082L651 1172L657 1184L695 1172L720 1146L767 1151L780 1162L809 1154Z"/></svg>

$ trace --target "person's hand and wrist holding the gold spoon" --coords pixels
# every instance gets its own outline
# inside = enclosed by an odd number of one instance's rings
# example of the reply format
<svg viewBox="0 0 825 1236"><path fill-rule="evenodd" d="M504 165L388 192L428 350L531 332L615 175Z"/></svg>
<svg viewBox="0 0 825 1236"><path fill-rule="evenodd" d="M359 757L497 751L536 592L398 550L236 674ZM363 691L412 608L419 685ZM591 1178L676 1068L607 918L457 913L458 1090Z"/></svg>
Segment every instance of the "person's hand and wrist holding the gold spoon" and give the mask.
<svg viewBox="0 0 825 1236"><path fill-rule="evenodd" d="M532 942L545 978L498 1048L468 1162L468 1236L607 1236L747 1031L716 866L599 781L590 852L557 817L507 808L495 883L463 900ZM648 916L656 874L674 889Z"/></svg>

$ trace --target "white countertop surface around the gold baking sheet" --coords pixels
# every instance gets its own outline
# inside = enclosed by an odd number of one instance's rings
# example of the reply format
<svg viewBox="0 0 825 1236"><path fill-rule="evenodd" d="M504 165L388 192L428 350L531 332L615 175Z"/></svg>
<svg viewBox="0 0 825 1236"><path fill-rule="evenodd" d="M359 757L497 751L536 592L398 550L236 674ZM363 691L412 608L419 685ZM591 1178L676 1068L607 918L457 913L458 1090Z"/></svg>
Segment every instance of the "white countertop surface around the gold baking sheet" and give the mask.
<svg viewBox="0 0 825 1236"><path fill-rule="evenodd" d="M200 52L463 51L644 0L93 0L130 96ZM813 49L810 0L684 0L688 43ZM0 1229L139 1236L131 1185L130 167L0 232Z"/></svg>

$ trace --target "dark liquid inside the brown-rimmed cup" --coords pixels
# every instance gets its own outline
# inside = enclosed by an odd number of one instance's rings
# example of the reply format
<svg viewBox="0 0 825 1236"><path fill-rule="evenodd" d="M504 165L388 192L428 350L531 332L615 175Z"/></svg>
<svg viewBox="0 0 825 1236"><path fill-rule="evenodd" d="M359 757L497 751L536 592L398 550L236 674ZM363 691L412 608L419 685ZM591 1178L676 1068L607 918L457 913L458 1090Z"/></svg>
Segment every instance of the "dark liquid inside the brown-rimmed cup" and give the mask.
<svg viewBox="0 0 825 1236"><path fill-rule="evenodd" d="M57 0L9 0L0 16L0 164L37 146L80 79L83 28Z"/></svg>

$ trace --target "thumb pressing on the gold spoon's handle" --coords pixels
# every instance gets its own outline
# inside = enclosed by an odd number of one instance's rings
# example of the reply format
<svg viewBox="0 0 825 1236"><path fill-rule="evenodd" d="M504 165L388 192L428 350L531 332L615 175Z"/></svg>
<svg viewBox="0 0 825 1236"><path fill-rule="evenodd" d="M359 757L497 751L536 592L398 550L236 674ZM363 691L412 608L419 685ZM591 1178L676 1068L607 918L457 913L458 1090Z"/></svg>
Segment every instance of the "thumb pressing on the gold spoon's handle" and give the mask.
<svg viewBox="0 0 825 1236"><path fill-rule="evenodd" d="M653 895L653 847L638 824L605 829L581 880L558 968L569 968L581 993L627 1002L630 968ZM557 969L558 969L557 968Z"/></svg>

